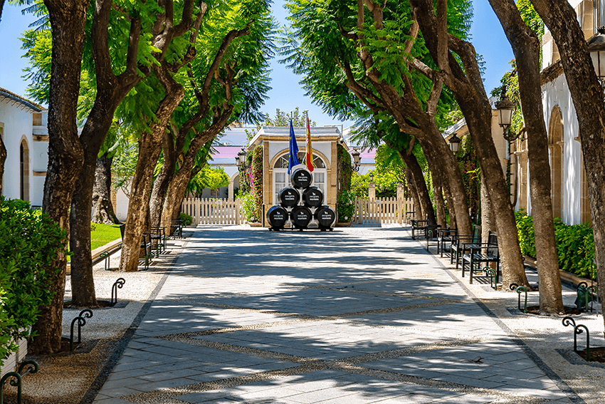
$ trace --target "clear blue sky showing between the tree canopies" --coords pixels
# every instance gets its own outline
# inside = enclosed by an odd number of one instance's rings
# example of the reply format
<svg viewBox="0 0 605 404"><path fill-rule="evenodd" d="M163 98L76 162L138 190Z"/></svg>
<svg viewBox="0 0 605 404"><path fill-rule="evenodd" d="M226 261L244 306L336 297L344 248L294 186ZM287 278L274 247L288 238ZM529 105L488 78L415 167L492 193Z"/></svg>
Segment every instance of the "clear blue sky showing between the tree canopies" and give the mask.
<svg viewBox="0 0 605 404"><path fill-rule="evenodd" d="M286 11L283 9L283 0L275 0L273 13L280 24L285 23ZM471 34L475 51L483 56L485 61L485 90L489 93L499 85L500 78L510 68L508 64L513 58L512 50L504 35L502 26L496 18L488 1L475 0L475 18ZM23 56L19 36L28 28L33 21L31 15L22 16L20 8L11 4L4 5L2 21L0 22L0 87L19 95L26 94L28 83L21 76L27 61ZM329 115L322 113L319 106L313 105L310 98L305 97L305 91L300 88L299 76L284 65L273 61L273 72L271 73L273 90L268 93L268 100L263 107L263 112L275 115L275 109L289 112L297 106L301 110L308 109L309 117L317 122L317 125L340 125L341 122L332 119ZM344 122L344 127L350 122Z"/></svg>

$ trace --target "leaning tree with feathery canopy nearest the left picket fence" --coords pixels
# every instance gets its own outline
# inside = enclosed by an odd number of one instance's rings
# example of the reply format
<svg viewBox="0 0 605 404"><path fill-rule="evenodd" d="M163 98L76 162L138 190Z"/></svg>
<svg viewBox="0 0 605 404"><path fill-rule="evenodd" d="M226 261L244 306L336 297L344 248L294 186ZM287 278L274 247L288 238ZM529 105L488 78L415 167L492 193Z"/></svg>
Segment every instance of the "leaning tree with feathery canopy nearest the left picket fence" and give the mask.
<svg viewBox="0 0 605 404"><path fill-rule="evenodd" d="M271 38L275 23L264 1L250 1L241 10L243 16L231 15L234 23L231 27L238 27L237 21L253 20L253 24L247 26L248 33L232 39L228 34L214 46L201 46L199 51L208 56L192 63L191 86L187 87L189 98L186 98L191 110L183 108L184 113L178 120L182 124L174 143L174 154L184 154L179 167L172 170L174 175L165 192L162 227L169 228L170 220L177 217L186 186L206 164L210 143L216 135L232 120L251 122L260 118L258 109L270 89L268 56L273 55ZM225 28L229 26L223 26ZM231 31L232 36L236 33L239 30ZM230 46L228 41L232 42ZM206 118L199 120L198 117L204 115ZM181 141L188 138L191 143Z"/></svg>

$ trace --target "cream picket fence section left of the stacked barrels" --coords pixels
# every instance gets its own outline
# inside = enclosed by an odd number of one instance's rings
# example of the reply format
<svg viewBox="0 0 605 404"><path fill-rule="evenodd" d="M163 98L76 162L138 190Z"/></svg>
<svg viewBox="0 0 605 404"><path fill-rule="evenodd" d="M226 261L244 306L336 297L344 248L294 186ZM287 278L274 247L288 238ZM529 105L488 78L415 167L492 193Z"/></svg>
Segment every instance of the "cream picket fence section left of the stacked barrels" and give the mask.
<svg viewBox="0 0 605 404"><path fill-rule="evenodd" d="M181 205L181 212L193 217L194 225L198 224L240 224L240 202L185 198Z"/></svg>

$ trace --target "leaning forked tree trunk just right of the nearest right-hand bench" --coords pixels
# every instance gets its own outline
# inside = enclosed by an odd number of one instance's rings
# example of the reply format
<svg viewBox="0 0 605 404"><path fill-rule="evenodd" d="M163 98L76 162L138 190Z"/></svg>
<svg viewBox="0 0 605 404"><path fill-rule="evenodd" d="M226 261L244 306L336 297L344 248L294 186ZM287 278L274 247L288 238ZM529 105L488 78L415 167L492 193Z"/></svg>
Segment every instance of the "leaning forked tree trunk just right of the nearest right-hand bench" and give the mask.
<svg viewBox="0 0 605 404"><path fill-rule="evenodd" d="M529 287L525 267L517 239L515 215L510 204L510 195L490 136L492 108L483 87L477 56L471 43L448 32L450 9L447 0L409 0L419 23L422 37L431 58L438 66L436 74L456 97L464 114L470 136L479 158L482 179L488 189L487 197L495 214L498 230L498 245L502 257L503 287L510 284Z"/></svg>

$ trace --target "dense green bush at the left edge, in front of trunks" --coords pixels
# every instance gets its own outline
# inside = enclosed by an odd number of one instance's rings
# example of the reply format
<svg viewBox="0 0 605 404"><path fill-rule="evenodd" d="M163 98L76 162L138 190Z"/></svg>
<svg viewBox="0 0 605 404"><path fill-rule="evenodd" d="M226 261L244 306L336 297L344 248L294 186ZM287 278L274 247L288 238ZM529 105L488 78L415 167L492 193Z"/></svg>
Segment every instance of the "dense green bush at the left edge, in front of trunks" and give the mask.
<svg viewBox="0 0 605 404"><path fill-rule="evenodd" d="M28 336L39 307L50 304L58 276L53 261L66 254L65 232L28 202L0 199L0 363L12 351L11 338Z"/></svg>

